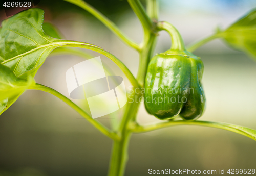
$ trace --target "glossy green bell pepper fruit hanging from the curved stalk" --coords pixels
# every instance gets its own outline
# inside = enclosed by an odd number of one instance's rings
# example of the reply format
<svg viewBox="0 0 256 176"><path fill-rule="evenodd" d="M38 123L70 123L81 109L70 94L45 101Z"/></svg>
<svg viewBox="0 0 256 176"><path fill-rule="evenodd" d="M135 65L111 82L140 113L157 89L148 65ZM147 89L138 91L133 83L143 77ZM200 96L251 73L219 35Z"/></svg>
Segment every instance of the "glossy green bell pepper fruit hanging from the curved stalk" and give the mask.
<svg viewBox="0 0 256 176"><path fill-rule="evenodd" d="M205 108L201 79L203 62L184 51L157 54L148 65L145 78L145 108L161 120L180 115L199 118Z"/></svg>

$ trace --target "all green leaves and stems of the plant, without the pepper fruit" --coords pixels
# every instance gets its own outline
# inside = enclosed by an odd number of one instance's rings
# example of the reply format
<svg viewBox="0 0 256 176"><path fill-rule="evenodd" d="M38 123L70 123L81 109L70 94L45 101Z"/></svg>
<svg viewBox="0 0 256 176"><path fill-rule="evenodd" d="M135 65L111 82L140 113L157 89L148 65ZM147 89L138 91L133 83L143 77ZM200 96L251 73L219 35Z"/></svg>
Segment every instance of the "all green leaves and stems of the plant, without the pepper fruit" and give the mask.
<svg viewBox="0 0 256 176"><path fill-rule="evenodd" d="M125 36L112 21L86 2L81 0L65 1L75 4L90 12L105 24L105 26L114 34L116 34L124 43L138 51L140 56L138 76L135 78L131 71L117 57L99 46L63 39L63 36L52 24L42 24L44 22L44 11L39 8L32 8L20 12L2 22L2 28L0 30L1 113L7 110L7 108L9 108L26 89L45 91L60 98L82 117L86 118L101 133L113 139L114 144L109 175L123 175L127 162L127 148L129 146L129 140L132 133L143 133L175 125L200 125L228 130L256 140L255 130L222 122L178 120L166 121L143 127L136 122L137 111L140 105L136 101L127 103L120 124L118 124L115 131L111 131L97 120L92 119L90 115L56 90L44 85L36 84L33 77L54 49L56 50L52 53L55 54L75 54L85 58L90 57L90 55L76 49L65 48L80 47L91 49L92 51L103 54L120 67L120 69L125 73L125 76L130 80L134 89L144 87L147 66L152 58L152 53L155 48L155 42L159 31L165 30L170 34L173 40L172 48L175 48L173 52L176 52L177 54L177 52L183 51L183 55L188 54L183 47L183 41L179 40L181 39L179 32L172 26L172 24L158 21L157 0L147 0L147 12L139 0L128 0L131 8L139 18L143 27L144 39L141 44L127 38L127 36ZM256 57L255 14L255 10L250 12L247 16L234 23L227 30L218 31L216 34L190 46L188 50L194 51L208 41L216 38L223 38L232 47ZM133 92L135 91L129 92L130 98L135 98L135 93ZM143 95L139 94L137 96L141 97Z"/></svg>

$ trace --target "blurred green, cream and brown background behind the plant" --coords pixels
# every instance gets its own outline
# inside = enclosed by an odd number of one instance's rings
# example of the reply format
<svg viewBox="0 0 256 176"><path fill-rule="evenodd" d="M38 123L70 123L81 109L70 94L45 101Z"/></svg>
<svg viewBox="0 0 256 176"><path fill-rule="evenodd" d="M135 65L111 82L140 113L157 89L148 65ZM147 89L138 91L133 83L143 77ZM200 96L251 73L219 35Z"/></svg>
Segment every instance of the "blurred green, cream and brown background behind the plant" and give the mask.
<svg viewBox="0 0 256 176"><path fill-rule="evenodd" d="M126 1L87 1L112 19L137 42L142 40L138 19ZM41 0L46 21L70 40L93 43L117 56L136 75L138 54L86 11L64 1ZM160 20L180 31L186 44L224 29L256 7L254 0L160 0ZM6 18L0 11L1 21ZM170 47L161 32L156 53ZM90 51L88 51L90 52ZM124 78L108 58L104 64ZM197 49L205 65L203 85L207 108L201 120L222 121L256 129L256 62L228 48L221 40ZM83 61L75 56L52 56L36 74L38 83L68 96L65 73ZM129 82L125 80L126 87ZM77 101L78 104L83 104ZM122 110L97 118L109 128ZM158 120L143 104L140 124ZM0 116L0 175L106 175L112 141L98 132L58 98L36 90L26 91ZM206 127L172 127L134 134L125 175L148 175L148 169L256 169L256 142L239 134Z"/></svg>

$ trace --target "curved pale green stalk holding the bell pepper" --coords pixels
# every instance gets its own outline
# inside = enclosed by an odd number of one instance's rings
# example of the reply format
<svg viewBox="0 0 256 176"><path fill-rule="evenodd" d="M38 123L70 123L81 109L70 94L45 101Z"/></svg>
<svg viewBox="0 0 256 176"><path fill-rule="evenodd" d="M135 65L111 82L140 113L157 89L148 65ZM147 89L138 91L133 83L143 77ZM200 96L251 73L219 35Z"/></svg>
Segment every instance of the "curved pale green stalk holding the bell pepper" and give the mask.
<svg viewBox="0 0 256 176"><path fill-rule="evenodd" d="M172 51L185 51L185 45L183 42L183 39L179 33L179 31L170 23L166 21L160 21L157 23L157 28L159 31L167 31L170 34L170 37L172 37L172 46L170 47L170 50Z"/></svg>

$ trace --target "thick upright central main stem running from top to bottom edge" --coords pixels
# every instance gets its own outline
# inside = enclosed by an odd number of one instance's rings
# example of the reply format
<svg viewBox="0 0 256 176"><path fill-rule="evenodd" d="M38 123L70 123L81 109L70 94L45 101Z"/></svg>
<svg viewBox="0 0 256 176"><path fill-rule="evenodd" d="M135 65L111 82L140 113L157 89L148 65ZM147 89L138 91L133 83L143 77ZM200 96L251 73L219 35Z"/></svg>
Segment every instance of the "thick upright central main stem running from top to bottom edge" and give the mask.
<svg viewBox="0 0 256 176"><path fill-rule="evenodd" d="M154 2L154 1L152 1ZM151 3L152 3L151 2ZM129 1L131 7L139 17L142 26L144 28L144 40L142 43L141 51L139 52L140 56L140 64L139 64L139 71L137 74L137 80L139 85L143 86L147 65L152 57L152 53L154 51L155 46L155 39L156 34L152 30L153 22L147 22L148 16L145 14L145 11L140 4L139 1ZM156 6L151 6L151 8L156 8ZM151 10L151 12L155 12L156 10ZM157 19L157 16L155 16ZM147 24L146 24L147 23ZM148 25L150 24L150 25ZM118 132L121 136L121 140L114 141L113 149L112 149L112 157L110 161L110 169L109 169L109 176L122 176L124 174L125 165L128 159L128 147L129 147L129 140L131 137L131 130L130 130L130 123L133 123L136 118L136 114L138 112L138 108L140 102L136 102L142 94L136 94L135 92L136 87L133 87L133 91L129 93L128 99L133 99L133 102L127 102L125 113L123 115L120 127Z"/></svg>

